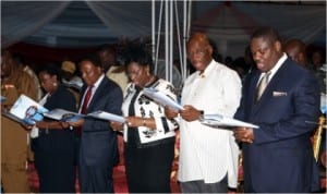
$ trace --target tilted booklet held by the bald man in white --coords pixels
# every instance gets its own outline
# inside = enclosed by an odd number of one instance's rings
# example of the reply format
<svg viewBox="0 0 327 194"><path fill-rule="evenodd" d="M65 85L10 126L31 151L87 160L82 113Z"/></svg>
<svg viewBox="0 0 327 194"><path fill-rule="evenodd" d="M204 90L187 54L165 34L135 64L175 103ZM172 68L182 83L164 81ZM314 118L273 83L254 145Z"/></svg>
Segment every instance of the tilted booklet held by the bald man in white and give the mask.
<svg viewBox="0 0 327 194"><path fill-rule="evenodd" d="M170 107L172 109L175 109L175 110L183 110L184 109L177 101L174 101L169 96L165 95L164 93L161 93L160 90L158 90L156 88L146 87L146 88L143 89L143 93L144 93L145 96L154 99L155 101L162 105L164 107L168 106L168 107Z"/></svg>

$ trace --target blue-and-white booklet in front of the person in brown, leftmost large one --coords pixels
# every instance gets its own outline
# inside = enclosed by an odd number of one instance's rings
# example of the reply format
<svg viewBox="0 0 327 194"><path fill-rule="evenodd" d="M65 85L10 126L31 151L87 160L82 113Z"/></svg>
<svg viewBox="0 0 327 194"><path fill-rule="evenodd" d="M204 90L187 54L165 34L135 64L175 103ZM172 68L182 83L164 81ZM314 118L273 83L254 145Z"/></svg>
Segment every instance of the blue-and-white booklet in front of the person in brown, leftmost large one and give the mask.
<svg viewBox="0 0 327 194"><path fill-rule="evenodd" d="M35 124L44 119L49 110L25 95L21 95L11 109L2 114L23 124Z"/></svg>

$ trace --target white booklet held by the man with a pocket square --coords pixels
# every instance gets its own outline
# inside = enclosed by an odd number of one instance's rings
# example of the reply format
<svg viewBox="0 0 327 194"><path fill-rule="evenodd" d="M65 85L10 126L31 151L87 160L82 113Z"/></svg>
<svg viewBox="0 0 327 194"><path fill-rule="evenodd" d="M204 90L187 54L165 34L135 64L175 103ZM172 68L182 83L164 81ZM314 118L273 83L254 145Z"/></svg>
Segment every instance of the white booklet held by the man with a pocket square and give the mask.
<svg viewBox="0 0 327 194"><path fill-rule="evenodd" d="M243 122L237 119L228 118L221 114L204 114L199 122L214 128L219 128L219 126L228 126L228 128L243 126L243 128L253 128L253 129L259 128L258 125Z"/></svg>

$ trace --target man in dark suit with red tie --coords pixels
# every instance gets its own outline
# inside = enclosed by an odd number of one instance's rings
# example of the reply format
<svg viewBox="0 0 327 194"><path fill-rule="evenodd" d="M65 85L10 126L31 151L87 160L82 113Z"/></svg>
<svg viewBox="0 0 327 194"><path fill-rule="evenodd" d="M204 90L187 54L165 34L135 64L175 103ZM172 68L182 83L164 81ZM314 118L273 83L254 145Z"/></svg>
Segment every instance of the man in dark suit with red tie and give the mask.
<svg viewBox="0 0 327 194"><path fill-rule="evenodd" d="M86 85L81 93L80 112L97 110L121 114L121 88L107 78L96 54L81 59L80 70ZM112 167L117 157L117 134L108 121L85 118L75 123L82 125L78 175L82 193L113 193Z"/></svg>

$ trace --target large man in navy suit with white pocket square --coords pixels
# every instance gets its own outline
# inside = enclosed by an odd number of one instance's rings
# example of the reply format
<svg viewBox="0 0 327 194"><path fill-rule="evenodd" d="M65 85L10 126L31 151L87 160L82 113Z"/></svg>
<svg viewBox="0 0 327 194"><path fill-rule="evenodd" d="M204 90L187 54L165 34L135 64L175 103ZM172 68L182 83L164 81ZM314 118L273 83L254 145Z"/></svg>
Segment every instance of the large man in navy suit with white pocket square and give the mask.
<svg viewBox="0 0 327 194"><path fill-rule="evenodd" d="M247 75L235 118L259 129L237 128L242 142L244 190L251 193L302 193L319 190L311 134L319 117L315 77L282 52L276 31L262 27L251 37L257 71ZM257 85L268 85L257 96Z"/></svg>

